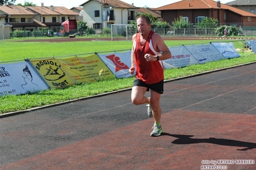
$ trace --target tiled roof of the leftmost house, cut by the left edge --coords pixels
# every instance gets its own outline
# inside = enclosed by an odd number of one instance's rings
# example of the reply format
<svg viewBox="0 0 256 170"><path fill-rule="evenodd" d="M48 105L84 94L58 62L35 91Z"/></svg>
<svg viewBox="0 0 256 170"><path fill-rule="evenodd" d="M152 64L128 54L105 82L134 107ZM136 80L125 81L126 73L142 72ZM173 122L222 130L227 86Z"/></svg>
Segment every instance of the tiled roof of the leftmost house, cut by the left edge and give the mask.
<svg viewBox="0 0 256 170"><path fill-rule="evenodd" d="M26 10L23 6L0 6L0 11L8 15L36 15L30 10Z"/></svg>

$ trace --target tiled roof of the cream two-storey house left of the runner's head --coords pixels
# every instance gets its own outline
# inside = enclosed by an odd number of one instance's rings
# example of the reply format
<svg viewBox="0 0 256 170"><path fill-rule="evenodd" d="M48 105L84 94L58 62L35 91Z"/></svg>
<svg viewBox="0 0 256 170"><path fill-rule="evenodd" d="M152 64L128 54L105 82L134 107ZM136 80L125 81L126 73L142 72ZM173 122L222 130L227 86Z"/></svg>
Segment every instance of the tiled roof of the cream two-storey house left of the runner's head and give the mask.
<svg viewBox="0 0 256 170"><path fill-rule="evenodd" d="M83 6L84 4L89 3L90 1L98 1L101 4L108 4L109 6L112 6L115 8L130 8L130 9L137 8L135 6L132 6L132 4L124 3L123 1L119 1L119 0L89 0L83 4L80 4L80 6Z"/></svg>

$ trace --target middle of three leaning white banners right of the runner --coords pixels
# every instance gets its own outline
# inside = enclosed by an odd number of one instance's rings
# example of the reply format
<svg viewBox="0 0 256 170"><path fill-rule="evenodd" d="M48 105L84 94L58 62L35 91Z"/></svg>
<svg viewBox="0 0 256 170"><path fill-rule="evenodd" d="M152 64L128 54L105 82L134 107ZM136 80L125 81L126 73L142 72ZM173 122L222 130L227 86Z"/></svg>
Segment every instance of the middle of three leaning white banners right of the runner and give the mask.
<svg viewBox="0 0 256 170"><path fill-rule="evenodd" d="M189 52L198 60L199 63L207 63L224 59L224 56L212 45L190 45L185 46Z"/></svg>

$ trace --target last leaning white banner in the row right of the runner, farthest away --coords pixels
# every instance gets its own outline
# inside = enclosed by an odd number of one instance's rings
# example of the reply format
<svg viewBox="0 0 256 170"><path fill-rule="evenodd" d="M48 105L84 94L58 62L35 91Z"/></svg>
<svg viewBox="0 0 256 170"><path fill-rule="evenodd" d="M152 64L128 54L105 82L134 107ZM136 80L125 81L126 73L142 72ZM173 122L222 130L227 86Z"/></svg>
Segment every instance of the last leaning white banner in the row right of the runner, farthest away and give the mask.
<svg viewBox="0 0 256 170"><path fill-rule="evenodd" d="M230 43L211 42L211 43L225 58L240 57L240 54L235 50L234 44L232 42Z"/></svg>

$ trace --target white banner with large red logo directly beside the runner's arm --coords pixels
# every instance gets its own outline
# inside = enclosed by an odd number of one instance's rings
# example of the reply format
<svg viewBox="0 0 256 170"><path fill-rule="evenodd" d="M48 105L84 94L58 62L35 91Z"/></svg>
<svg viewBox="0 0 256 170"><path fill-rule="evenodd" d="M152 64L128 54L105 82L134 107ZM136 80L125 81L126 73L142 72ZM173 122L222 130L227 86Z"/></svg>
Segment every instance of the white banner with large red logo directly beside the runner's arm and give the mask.
<svg viewBox="0 0 256 170"><path fill-rule="evenodd" d="M115 77L124 78L133 76L129 73L129 69L132 66L131 51L112 54L98 54L98 56L102 59L105 65L107 65Z"/></svg>

